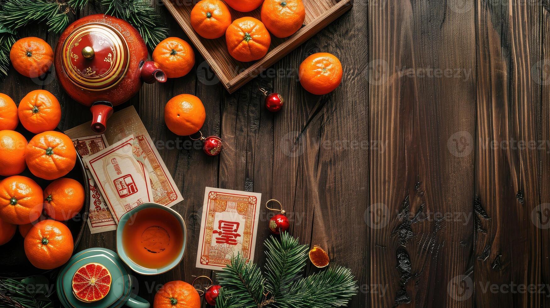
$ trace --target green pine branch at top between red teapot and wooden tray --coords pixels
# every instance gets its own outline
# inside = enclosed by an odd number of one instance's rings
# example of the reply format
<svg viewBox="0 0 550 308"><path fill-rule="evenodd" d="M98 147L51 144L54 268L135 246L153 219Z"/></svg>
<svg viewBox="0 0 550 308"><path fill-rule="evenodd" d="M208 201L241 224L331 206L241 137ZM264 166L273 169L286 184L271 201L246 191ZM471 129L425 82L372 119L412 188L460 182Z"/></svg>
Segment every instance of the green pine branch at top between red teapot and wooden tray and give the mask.
<svg viewBox="0 0 550 308"><path fill-rule="evenodd" d="M101 0L107 6L106 14L122 18L133 25L147 46L154 49L168 36L163 20L147 0Z"/></svg>

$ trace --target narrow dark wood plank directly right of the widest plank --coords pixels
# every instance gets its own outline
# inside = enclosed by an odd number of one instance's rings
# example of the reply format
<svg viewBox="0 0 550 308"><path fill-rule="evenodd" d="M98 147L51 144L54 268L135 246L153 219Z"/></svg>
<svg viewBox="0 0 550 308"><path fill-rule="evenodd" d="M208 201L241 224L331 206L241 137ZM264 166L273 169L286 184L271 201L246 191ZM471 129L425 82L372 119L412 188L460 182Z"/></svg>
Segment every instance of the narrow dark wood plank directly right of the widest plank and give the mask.
<svg viewBox="0 0 550 308"><path fill-rule="evenodd" d="M518 149L503 147L519 138L510 108L511 75L509 13L499 5L476 3L477 23L477 134L476 201L474 204L475 303L480 307L513 307L514 295L489 292L491 285L513 281L526 271L525 232L517 211ZM498 146L491 146L496 142ZM511 209L510 209L511 207ZM517 276L516 272L516 276ZM517 303L516 303L517 304Z"/></svg>

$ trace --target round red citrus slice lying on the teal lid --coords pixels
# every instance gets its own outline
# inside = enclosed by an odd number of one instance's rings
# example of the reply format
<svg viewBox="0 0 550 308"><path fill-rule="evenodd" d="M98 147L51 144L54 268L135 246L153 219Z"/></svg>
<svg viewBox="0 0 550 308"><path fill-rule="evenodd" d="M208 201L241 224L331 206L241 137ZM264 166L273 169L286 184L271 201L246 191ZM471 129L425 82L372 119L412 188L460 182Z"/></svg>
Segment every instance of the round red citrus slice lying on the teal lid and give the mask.
<svg viewBox="0 0 550 308"><path fill-rule="evenodd" d="M111 289L111 273L100 263L80 267L73 276L73 293L81 301L92 303L105 298Z"/></svg>

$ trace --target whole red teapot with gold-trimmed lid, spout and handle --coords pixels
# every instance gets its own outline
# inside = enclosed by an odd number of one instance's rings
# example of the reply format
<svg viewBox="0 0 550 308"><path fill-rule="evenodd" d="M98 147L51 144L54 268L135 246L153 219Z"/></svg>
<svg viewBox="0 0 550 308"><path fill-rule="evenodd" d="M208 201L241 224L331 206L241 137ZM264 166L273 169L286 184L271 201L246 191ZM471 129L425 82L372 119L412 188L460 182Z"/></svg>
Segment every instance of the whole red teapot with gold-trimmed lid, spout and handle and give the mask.
<svg viewBox="0 0 550 308"><path fill-rule="evenodd" d="M55 53L57 78L70 97L90 106L92 130L103 133L113 106L128 101L143 82L166 82L147 54L138 30L109 15L89 15L63 31Z"/></svg>

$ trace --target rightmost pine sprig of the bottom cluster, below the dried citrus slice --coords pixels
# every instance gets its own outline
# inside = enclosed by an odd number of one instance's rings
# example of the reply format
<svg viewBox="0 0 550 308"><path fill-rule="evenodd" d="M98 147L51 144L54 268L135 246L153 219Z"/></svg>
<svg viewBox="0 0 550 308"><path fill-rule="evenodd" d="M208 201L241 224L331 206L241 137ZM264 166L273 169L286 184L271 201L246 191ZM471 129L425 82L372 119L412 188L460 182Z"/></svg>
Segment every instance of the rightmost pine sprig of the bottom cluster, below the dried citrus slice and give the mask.
<svg viewBox="0 0 550 308"><path fill-rule="evenodd" d="M331 267L301 279L287 294L281 294L277 303L293 308L343 307L356 293L356 282L349 268Z"/></svg>

